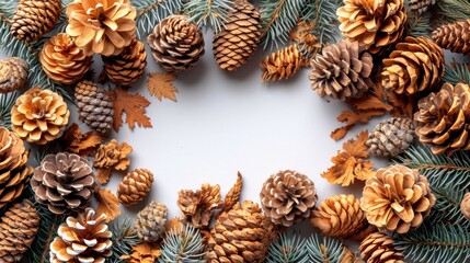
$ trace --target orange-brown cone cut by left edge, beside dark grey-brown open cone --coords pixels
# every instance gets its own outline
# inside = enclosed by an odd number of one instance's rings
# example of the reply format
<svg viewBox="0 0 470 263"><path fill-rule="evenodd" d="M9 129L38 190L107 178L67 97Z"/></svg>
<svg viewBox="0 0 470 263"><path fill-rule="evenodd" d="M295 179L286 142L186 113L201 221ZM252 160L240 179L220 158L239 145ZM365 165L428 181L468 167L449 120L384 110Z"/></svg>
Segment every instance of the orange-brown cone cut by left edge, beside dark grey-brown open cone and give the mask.
<svg viewBox="0 0 470 263"><path fill-rule="evenodd" d="M22 193L33 168L26 165L28 151L18 134L0 127L0 208Z"/></svg>

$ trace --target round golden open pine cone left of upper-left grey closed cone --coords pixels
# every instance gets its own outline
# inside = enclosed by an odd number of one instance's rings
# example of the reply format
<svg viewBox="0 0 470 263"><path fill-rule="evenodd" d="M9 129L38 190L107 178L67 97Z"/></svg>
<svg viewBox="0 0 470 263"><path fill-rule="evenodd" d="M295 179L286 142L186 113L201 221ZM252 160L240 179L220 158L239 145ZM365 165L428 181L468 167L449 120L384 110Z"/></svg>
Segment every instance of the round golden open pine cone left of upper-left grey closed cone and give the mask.
<svg viewBox="0 0 470 263"><path fill-rule="evenodd" d="M11 129L27 142L45 145L62 135L69 116L61 95L35 87L16 99L11 110Z"/></svg>

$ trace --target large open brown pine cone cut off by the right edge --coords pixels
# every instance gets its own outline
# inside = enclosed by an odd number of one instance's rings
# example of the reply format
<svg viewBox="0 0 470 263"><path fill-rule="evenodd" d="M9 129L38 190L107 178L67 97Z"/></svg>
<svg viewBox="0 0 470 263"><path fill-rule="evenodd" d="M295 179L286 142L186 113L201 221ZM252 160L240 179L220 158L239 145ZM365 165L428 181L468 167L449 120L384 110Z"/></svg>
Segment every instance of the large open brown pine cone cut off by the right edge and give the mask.
<svg viewBox="0 0 470 263"><path fill-rule="evenodd" d="M470 87L445 83L439 92L419 101L414 114L416 135L434 155L470 149Z"/></svg>

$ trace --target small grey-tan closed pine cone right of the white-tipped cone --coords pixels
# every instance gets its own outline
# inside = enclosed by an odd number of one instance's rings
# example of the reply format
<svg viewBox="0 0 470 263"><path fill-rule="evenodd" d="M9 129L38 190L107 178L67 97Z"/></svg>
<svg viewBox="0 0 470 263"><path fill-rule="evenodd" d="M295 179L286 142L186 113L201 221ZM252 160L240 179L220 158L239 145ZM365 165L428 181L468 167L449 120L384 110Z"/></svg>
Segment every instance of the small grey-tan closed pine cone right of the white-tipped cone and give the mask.
<svg viewBox="0 0 470 263"><path fill-rule="evenodd" d="M137 214L134 228L144 242L156 242L167 230L167 206L152 201Z"/></svg>

